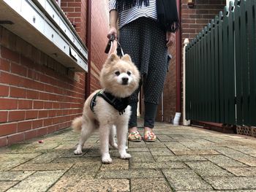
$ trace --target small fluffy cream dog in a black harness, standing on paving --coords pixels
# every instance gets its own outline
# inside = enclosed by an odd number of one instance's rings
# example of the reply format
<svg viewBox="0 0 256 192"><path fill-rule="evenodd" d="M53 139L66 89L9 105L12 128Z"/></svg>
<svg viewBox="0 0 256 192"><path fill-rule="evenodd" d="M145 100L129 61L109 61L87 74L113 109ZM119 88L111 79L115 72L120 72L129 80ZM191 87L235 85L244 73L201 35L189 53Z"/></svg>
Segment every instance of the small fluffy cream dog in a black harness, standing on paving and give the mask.
<svg viewBox="0 0 256 192"><path fill-rule="evenodd" d="M74 153L81 154L86 139L99 129L102 163L110 164L112 159L108 144L118 149L121 158L131 157L126 152L128 121L131 115L128 100L138 88L140 73L129 55L119 58L116 53L112 53L102 67L99 81L102 90L94 91L86 99L83 115L72 121L72 128L81 131L80 141Z"/></svg>

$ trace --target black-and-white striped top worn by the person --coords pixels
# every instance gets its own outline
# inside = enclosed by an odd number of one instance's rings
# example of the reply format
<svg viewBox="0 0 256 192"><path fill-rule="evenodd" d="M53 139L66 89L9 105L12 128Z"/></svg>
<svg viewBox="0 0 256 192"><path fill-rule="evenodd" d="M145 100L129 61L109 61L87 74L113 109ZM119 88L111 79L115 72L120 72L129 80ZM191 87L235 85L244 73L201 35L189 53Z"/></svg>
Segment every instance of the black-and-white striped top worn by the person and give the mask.
<svg viewBox="0 0 256 192"><path fill-rule="evenodd" d="M118 12L118 25L119 28L126 25L127 23L132 22L141 17L152 18L157 20L157 0L149 0L149 5L145 6L142 4L141 7L135 6L131 9L123 10ZM116 9L116 0L109 1L110 11Z"/></svg>

